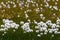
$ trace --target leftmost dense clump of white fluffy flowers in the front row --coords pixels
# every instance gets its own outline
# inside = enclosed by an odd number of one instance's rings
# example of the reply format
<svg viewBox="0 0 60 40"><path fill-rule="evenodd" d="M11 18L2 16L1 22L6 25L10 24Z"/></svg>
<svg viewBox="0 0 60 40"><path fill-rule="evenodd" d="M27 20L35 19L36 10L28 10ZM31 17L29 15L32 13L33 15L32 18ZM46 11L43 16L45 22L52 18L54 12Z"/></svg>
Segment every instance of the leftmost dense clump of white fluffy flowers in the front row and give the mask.
<svg viewBox="0 0 60 40"><path fill-rule="evenodd" d="M13 22L12 20L9 20L9 19L3 19L3 23L4 23L4 25L1 25L1 26L4 26L5 29L9 29L9 28L18 29L18 27L19 27L18 24L16 24L15 22Z"/></svg>

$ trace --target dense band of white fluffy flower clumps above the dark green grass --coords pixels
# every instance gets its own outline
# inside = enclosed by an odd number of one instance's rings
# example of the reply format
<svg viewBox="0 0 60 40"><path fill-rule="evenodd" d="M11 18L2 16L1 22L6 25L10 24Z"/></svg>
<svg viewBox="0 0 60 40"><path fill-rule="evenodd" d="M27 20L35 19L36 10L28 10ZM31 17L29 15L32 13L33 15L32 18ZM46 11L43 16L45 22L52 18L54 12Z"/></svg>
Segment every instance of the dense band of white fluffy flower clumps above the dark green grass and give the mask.
<svg viewBox="0 0 60 40"><path fill-rule="evenodd" d="M35 32L37 33L37 36L41 37L41 35L47 35L48 33L53 33L53 32L55 34L59 34L60 33L58 32L60 27L59 21L60 19L57 19L56 23L52 23L51 20L47 20L46 22L43 22L43 21L37 22L36 20L34 20L33 22L34 24L36 24L34 29L35 29ZM18 29L19 27L21 27L23 29L23 33L34 32L34 30L30 28L30 24L31 24L30 20L28 20L28 22L20 21L20 25L21 25L20 26L19 24L16 24L15 22L13 22L13 20L3 19L3 24L1 25L0 31L5 32L5 31L8 31L10 28L14 28L13 32L15 32L16 31L15 29Z"/></svg>

